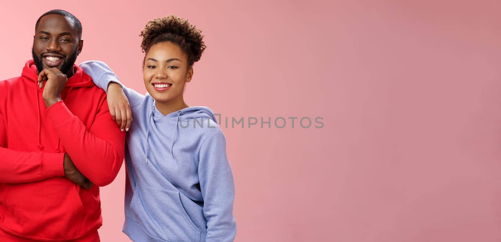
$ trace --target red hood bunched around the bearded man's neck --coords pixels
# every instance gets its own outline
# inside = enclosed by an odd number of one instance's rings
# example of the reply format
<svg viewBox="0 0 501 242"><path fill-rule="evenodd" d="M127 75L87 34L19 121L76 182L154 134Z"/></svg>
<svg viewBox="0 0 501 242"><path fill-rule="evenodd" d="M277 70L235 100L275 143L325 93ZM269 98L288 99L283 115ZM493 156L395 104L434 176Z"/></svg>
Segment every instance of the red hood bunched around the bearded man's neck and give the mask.
<svg viewBox="0 0 501 242"><path fill-rule="evenodd" d="M92 78L87 75L82 68L77 65L73 65L73 69L75 70L75 74L68 78L68 82L66 83L66 87L81 87L81 86L93 86L94 82ZM26 77L26 79L30 82L33 82L35 85L38 80L38 70L35 65L35 61L28 60L23 67L22 76ZM40 89L40 88L37 88Z"/></svg>

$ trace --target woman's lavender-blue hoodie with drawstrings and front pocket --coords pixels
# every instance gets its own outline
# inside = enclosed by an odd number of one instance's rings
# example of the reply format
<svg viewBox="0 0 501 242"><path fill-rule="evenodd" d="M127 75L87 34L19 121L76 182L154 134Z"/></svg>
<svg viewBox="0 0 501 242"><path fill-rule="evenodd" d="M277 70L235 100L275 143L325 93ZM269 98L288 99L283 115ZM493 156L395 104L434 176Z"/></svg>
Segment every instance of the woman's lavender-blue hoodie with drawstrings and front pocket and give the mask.
<svg viewBox="0 0 501 242"><path fill-rule="evenodd" d="M111 81L121 84L104 62L80 67L104 90ZM149 94L122 87L133 119L123 231L134 241L233 241L233 174L212 110L192 106L163 115Z"/></svg>

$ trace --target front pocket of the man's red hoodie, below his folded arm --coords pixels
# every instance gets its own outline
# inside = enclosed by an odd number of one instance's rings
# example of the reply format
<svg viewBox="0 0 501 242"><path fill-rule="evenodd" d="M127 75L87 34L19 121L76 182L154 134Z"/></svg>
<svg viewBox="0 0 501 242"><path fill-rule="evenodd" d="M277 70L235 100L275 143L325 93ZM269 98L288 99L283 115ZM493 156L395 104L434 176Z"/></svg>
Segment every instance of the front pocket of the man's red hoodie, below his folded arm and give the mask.
<svg viewBox="0 0 501 242"><path fill-rule="evenodd" d="M61 177L6 186L5 230L38 239L79 235L84 207L75 183Z"/></svg>

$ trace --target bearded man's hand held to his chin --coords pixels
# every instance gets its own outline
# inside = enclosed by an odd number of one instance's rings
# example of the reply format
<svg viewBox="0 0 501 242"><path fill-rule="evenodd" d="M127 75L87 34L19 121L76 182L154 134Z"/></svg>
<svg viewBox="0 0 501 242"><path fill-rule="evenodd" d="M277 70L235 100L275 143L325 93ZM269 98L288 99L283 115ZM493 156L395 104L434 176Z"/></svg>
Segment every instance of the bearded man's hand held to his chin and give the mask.
<svg viewBox="0 0 501 242"><path fill-rule="evenodd" d="M40 88L44 87L44 81L46 83L42 96L44 97L45 106L50 107L61 100L61 92L66 86L66 82L68 82L68 77L56 67L45 68L38 74Z"/></svg>

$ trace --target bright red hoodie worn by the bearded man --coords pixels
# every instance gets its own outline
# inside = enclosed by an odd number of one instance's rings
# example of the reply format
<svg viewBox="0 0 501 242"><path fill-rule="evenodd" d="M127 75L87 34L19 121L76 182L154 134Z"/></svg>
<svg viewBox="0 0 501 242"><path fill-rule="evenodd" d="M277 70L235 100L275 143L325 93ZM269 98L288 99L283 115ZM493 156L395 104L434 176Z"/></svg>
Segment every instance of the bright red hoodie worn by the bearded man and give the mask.
<svg viewBox="0 0 501 242"><path fill-rule="evenodd" d="M49 108L33 60L22 76L0 81L1 241L99 239L98 186L117 175L125 134L106 93L74 68L62 101ZM64 177L64 153L94 183L90 189Z"/></svg>

